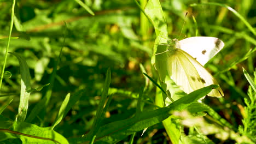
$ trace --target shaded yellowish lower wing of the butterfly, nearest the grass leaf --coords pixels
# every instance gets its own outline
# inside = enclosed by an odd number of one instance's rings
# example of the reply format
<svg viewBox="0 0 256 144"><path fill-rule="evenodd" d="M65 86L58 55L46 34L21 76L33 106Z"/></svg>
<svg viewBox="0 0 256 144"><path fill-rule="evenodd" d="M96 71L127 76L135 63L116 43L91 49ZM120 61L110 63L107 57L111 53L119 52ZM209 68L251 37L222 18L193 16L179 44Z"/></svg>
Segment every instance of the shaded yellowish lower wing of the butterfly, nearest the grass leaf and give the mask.
<svg viewBox="0 0 256 144"><path fill-rule="evenodd" d="M214 77L187 52L175 49L170 53L167 58L168 75L185 93L190 93L212 84L218 85ZM224 94L219 87L213 89L208 95L222 97Z"/></svg>

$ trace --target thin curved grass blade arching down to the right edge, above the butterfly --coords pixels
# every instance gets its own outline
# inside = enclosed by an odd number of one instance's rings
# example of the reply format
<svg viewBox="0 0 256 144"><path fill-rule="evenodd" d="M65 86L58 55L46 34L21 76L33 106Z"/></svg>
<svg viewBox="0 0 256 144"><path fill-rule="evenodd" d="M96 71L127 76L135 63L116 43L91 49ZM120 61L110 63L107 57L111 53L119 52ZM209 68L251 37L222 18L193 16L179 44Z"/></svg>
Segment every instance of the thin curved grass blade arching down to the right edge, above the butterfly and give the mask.
<svg viewBox="0 0 256 144"><path fill-rule="evenodd" d="M220 3L194 3L194 4L190 4L190 7L196 7L199 5L218 5L220 7L224 7L227 8L228 10L230 10L235 16L237 16L243 23L245 23L245 25L248 27L248 29L254 34L256 35L256 31L254 30L254 28L250 25L250 23L245 19L245 17L243 17L242 15L240 15L239 13L237 13L237 11L231 7L229 7L226 4L220 4Z"/></svg>

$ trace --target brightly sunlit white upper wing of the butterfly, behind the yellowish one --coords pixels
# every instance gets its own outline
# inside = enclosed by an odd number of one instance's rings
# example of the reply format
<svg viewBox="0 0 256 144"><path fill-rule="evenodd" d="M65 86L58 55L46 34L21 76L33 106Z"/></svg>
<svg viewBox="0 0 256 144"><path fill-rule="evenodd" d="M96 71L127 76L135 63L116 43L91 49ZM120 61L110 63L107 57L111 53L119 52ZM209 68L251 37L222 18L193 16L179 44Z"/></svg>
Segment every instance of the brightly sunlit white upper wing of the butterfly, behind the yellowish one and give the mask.
<svg viewBox="0 0 256 144"><path fill-rule="evenodd" d="M179 41L179 46L201 65L205 65L222 50L224 43L214 37L190 37Z"/></svg>

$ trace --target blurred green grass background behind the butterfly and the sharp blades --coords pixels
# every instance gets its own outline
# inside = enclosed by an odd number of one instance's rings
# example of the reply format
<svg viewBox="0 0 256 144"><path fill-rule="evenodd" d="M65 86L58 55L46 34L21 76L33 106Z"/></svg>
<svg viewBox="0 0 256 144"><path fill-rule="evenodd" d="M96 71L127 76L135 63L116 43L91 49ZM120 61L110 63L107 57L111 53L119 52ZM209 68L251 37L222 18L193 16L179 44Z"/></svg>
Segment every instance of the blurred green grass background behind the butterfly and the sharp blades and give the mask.
<svg viewBox="0 0 256 144"><path fill-rule="evenodd" d="M47 127L53 123L59 107L67 93L85 89L78 103L72 107L56 131L65 137L83 135L89 131L94 120L105 74L112 71L109 93L113 100L109 106L104 123L131 117L135 113L139 88L145 87L147 104L144 110L154 109L156 87L146 80L139 64L148 75L157 79L151 65L155 32L153 26L141 13L134 1L83 1L95 15L91 15L76 1L17 1L16 20L22 27L15 25L10 42L10 52L17 52L26 58L31 74L31 87L37 88L49 83L54 63L59 56L65 24L66 41L60 63L57 66L53 93L46 110L35 118L33 123ZM193 3L209 1L160 1L168 24L170 39L197 36L217 37L225 46L206 68L218 80L225 97L221 99L207 97L204 102L234 127L242 124L244 102L247 97L248 82L243 76L242 67L253 76L255 68L255 35L245 23L224 7L216 5L198 5ZM211 1L229 5L245 17L252 27L256 27L256 2ZM142 7L146 1L140 1ZM9 1L0 1L0 38L8 37L10 23ZM185 17L185 13L188 16ZM193 21L195 17L196 23ZM254 28L255 29L255 28ZM4 62L7 41L0 41L0 62ZM2 66L2 64L1 64ZM8 55L5 70L12 77L4 79L1 94L20 92L20 69L16 57ZM44 97L47 87L32 92L28 113ZM13 102L2 115L14 119L18 112L19 94L9 96ZM2 105L9 97L0 97ZM150 127L143 136L136 135L137 143L158 143L168 137L161 124ZM214 135L211 140L218 143ZM129 139L124 140L129 141ZM227 142L230 142L227 140Z"/></svg>

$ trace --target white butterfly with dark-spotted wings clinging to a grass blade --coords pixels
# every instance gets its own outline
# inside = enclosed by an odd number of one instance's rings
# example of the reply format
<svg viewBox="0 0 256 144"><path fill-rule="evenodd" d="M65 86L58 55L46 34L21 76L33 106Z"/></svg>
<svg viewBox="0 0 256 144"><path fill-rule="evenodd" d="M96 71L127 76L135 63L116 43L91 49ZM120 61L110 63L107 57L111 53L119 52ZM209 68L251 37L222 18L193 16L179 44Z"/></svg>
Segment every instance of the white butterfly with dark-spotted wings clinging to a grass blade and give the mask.
<svg viewBox="0 0 256 144"><path fill-rule="evenodd" d="M167 71L171 79L185 93L209 85L218 85L214 77L205 69L205 65L222 48L222 40L213 37L191 37L181 41L172 40L173 45L167 52ZM219 87L209 94L211 97L223 97Z"/></svg>

